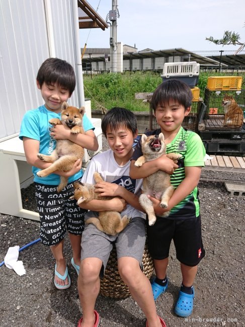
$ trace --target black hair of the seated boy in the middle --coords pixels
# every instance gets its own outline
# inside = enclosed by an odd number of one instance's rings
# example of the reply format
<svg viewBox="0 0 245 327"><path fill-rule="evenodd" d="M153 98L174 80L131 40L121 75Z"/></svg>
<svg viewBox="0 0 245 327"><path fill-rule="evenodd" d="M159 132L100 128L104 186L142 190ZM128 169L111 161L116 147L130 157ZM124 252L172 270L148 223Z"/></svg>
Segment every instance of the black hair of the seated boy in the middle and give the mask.
<svg viewBox="0 0 245 327"><path fill-rule="evenodd" d="M134 135L137 132L137 119L134 113L128 109L119 107L108 110L101 122L103 134L106 136L108 127L111 130L117 130L121 126L129 129Z"/></svg>

